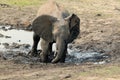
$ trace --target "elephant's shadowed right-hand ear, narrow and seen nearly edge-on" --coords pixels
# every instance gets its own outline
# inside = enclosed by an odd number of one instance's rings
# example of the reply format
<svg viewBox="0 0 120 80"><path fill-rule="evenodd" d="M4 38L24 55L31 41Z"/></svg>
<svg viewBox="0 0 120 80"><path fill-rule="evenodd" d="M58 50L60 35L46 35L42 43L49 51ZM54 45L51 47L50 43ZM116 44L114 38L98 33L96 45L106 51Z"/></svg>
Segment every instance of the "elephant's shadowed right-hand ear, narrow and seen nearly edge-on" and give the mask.
<svg viewBox="0 0 120 80"><path fill-rule="evenodd" d="M76 39L80 33L80 19L77 15L72 14L65 18L65 20L69 23L70 37L68 39L68 43L70 43Z"/></svg>

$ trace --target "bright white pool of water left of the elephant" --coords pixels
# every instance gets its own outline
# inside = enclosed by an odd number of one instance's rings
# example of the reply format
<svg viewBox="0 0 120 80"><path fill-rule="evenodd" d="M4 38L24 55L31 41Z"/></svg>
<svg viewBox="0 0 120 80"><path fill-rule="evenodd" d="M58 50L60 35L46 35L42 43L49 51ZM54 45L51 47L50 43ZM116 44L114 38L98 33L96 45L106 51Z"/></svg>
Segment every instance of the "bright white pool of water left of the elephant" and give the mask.
<svg viewBox="0 0 120 80"><path fill-rule="evenodd" d="M8 28L5 28L6 30ZM18 43L18 44L30 44L32 45L32 35L33 32L24 31L24 30L3 30L0 28L0 34L4 35L0 37L1 43Z"/></svg>

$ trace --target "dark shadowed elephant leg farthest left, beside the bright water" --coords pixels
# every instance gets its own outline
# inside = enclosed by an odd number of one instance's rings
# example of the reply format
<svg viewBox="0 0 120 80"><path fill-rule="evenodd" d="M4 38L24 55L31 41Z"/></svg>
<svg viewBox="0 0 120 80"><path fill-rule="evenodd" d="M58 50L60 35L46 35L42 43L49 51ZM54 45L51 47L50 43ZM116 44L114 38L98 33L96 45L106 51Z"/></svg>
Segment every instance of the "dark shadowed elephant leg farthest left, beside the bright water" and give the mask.
<svg viewBox="0 0 120 80"><path fill-rule="evenodd" d="M32 50L29 52L29 54L30 54L31 56L36 57L36 56L38 55L38 54L37 54L37 46L38 46L39 40L40 40L40 37L34 33L34 35L33 35L33 46L32 46Z"/></svg>

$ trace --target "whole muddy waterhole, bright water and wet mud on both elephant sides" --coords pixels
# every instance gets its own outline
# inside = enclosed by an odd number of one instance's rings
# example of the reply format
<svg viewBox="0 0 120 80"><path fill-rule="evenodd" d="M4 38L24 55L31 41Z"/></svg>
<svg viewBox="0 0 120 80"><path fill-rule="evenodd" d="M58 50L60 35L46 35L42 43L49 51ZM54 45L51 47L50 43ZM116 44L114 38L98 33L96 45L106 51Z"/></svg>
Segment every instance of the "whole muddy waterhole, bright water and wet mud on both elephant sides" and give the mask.
<svg viewBox="0 0 120 80"><path fill-rule="evenodd" d="M0 55L5 60L13 60L16 63L40 62L39 57L29 57L28 52L33 44L33 32L12 29L11 26L0 26ZM40 49L40 46L39 48ZM55 50L55 44L53 46ZM93 62L104 64L109 56L97 52L80 52L77 49L69 49L66 63Z"/></svg>

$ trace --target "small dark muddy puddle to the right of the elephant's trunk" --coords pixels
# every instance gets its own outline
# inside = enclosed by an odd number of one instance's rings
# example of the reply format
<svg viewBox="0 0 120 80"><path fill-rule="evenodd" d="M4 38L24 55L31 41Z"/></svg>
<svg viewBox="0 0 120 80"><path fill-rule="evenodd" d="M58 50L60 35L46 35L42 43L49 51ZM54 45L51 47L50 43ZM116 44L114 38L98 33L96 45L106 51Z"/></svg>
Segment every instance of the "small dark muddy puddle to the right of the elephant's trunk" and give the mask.
<svg viewBox="0 0 120 80"><path fill-rule="evenodd" d="M95 64L106 63L106 59L110 56L104 53L98 52L80 52L79 50L70 50L68 49L68 57L66 58L66 62L68 63L85 63L85 62L93 62ZM108 60L107 60L108 62Z"/></svg>

